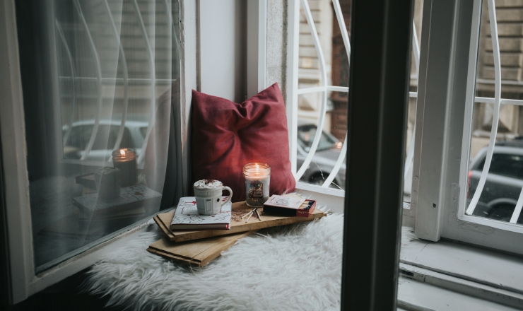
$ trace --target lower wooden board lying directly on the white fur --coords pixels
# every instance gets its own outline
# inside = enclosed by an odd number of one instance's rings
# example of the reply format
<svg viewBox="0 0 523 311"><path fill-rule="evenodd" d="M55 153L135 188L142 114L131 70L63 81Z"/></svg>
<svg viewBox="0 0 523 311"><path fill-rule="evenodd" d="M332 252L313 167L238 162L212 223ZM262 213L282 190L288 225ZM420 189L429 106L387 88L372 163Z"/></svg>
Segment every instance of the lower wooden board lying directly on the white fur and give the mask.
<svg viewBox="0 0 523 311"><path fill-rule="evenodd" d="M180 243L171 242L167 237L163 237L149 245L147 250L175 262L205 266L208 262L220 256L221 252L233 246L237 240L254 232L256 230Z"/></svg>

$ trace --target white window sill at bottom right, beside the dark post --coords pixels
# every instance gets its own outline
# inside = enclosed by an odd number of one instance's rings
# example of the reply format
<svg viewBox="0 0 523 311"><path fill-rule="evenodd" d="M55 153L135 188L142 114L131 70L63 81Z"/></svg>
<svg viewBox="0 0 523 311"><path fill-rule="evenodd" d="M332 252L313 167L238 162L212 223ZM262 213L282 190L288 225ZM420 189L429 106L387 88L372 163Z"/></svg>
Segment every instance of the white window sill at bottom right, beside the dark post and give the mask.
<svg viewBox="0 0 523 311"><path fill-rule="evenodd" d="M400 307L403 302L406 303L404 307L416 305L440 310L437 299L433 298L441 294L440 298L447 303L449 310L456 310L463 295L469 296L472 304L477 301L486 303L479 305L481 310L488 309L490 303L499 304L498 309L493 310L499 310L500 305L507 306L507 310L510 307L523 308L520 277L523 275L523 259L513 254L449 240L411 240L401 247L399 269ZM425 295L427 286L435 286L437 291ZM423 301L419 300L421 297ZM472 307L471 310L478 309Z"/></svg>

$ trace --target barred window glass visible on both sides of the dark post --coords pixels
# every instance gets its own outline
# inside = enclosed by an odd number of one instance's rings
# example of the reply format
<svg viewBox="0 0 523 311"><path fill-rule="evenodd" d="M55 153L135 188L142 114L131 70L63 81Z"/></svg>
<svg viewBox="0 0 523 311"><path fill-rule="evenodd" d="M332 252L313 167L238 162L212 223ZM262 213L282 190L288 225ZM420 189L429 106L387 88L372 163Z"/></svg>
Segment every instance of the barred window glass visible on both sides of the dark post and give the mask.
<svg viewBox="0 0 523 311"><path fill-rule="evenodd" d="M300 1L300 37L298 60L298 159L297 170L305 163L307 154L312 160L307 169L298 174L301 182L320 184L323 187L345 187L345 159L336 168L336 161L341 155L347 133L348 114L348 72L351 37L351 0L307 0L307 6ZM336 12L336 2L341 10ZM416 0L414 22L416 35L421 38L421 11L423 1ZM339 15L345 28L340 28ZM316 32L311 29L314 25ZM346 36L345 36L346 34ZM317 37L316 37L317 35ZM414 119L416 118L416 90L418 86L416 53L411 57L411 92L409 98L409 122L406 136L406 151L409 151L413 138ZM322 122L322 112L324 121ZM322 127L322 134L313 149L317 128ZM408 153L408 152L406 152ZM412 152L413 153L413 150ZM412 156L406 165L405 201L410 201L412 182ZM335 177L331 184L324 184L331 172Z"/></svg>

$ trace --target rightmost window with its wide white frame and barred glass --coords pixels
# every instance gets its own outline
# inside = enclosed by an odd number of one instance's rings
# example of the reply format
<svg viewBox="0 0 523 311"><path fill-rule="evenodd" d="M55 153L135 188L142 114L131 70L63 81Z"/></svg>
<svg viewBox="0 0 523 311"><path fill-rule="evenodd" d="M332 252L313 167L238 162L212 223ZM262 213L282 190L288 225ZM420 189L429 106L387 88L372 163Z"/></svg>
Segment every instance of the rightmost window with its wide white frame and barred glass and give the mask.
<svg viewBox="0 0 523 311"><path fill-rule="evenodd" d="M424 8L411 204L418 237L523 253L521 87L508 61L520 52L507 45L521 21L511 5Z"/></svg>

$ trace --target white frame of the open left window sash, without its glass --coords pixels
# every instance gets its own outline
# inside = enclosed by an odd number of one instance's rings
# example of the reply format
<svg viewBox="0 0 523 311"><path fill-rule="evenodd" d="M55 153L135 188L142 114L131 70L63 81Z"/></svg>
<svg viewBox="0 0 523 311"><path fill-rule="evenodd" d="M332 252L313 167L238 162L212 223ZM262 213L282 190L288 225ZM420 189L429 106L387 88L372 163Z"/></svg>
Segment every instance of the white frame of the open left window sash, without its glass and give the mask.
<svg viewBox="0 0 523 311"><path fill-rule="evenodd" d="M74 257L46 271L35 274L33 233L29 203L25 121L18 54L15 1L0 5L0 133L5 182L5 213L8 233L8 270L10 272L10 303L19 303L30 295L95 264L103 254L123 245L134 233L145 230L151 218L105 237L105 242L76 251ZM180 129L183 191L187 194L189 180L188 120L192 89L196 88L196 4L180 0L180 76L182 120ZM181 122L180 122L181 121Z"/></svg>

